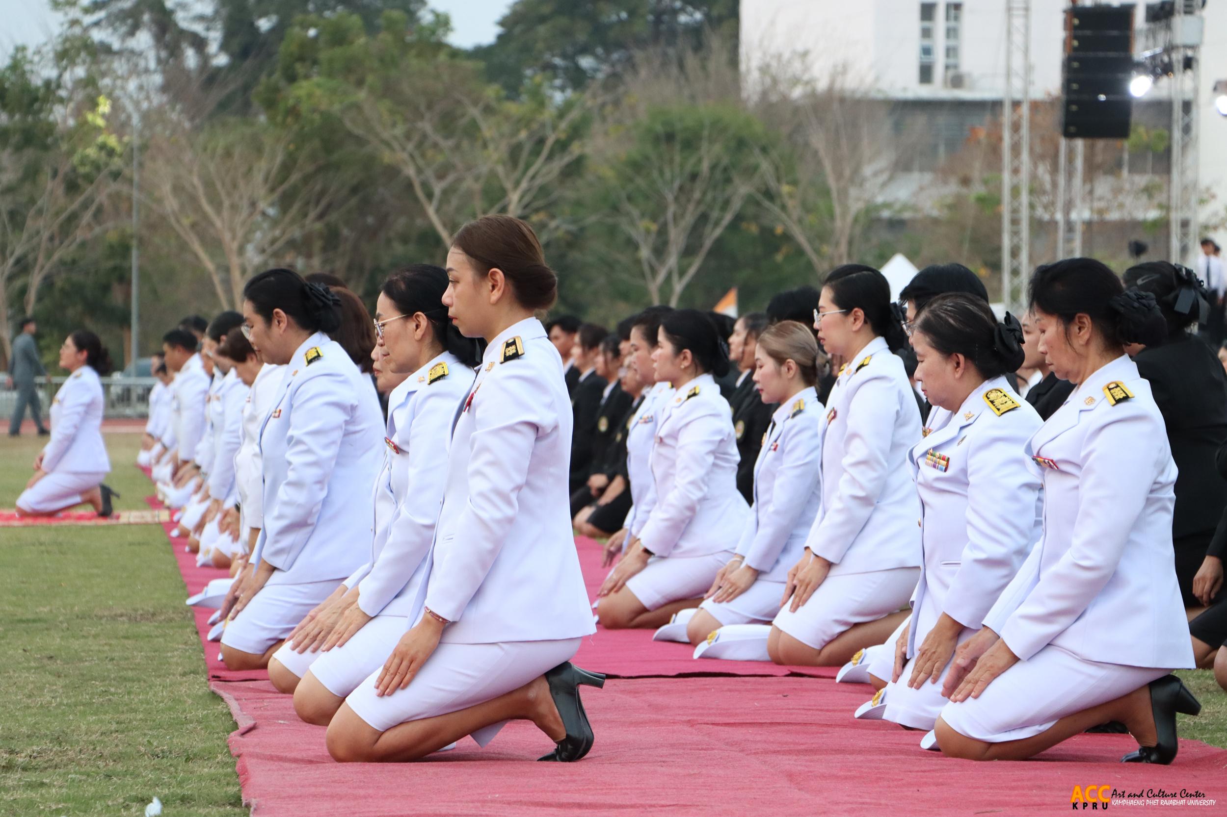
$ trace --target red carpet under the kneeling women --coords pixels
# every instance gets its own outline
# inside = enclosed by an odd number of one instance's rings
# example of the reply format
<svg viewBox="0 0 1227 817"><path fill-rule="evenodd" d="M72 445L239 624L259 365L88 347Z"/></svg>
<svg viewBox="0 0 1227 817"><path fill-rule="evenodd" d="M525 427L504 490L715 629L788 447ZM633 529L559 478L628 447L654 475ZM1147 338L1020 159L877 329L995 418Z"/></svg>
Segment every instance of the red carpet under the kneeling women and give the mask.
<svg viewBox="0 0 1227 817"><path fill-rule="evenodd" d="M223 574L196 568L182 545L172 546L189 593ZM580 542L580 554L593 577L591 545ZM196 613L201 638L207 617ZM486 750L465 738L420 763L337 764L324 729L301 723L288 697L266 680L237 682L263 672L229 673L216 644L205 655L211 687L238 721L229 746L255 817L1034 815L1069 808L1075 785L1201 791L1217 813L1227 797L1227 751L1196 741L1182 741L1172 767L1120 764L1136 746L1128 735L1080 735L1026 763L951 761L921 751L919 732L855 721L866 686L751 677L788 670L694 661L685 645L649 638L602 631L583 646L577 662L627 677L584 691L596 745L577 764L535 764L552 746L520 723ZM729 675L676 677L698 664Z"/></svg>

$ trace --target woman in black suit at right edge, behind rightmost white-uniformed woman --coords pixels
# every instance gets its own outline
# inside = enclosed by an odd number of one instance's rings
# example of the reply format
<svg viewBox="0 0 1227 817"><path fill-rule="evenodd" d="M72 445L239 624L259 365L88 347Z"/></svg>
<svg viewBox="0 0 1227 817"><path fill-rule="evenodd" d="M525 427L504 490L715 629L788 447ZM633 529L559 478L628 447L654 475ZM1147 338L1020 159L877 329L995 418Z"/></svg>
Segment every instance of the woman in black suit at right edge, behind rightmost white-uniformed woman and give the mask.
<svg viewBox="0 0 1227 817"><path fill-rule="evenodd" d="M1227 375L1215 352L1189 332L1207 308L1206 290L1193 270L1148 261L1125 271L1125 286L1153 294L1167 320L1166 342L1126 351L1150 380L1167 423L1172 459L1179 469L1172 523L1175 574L1184 606L1201 607L1214 599L1198 597L1194 577L1227 504L1227 481L1215 467L1218 447L1227 439Z"/></svg>

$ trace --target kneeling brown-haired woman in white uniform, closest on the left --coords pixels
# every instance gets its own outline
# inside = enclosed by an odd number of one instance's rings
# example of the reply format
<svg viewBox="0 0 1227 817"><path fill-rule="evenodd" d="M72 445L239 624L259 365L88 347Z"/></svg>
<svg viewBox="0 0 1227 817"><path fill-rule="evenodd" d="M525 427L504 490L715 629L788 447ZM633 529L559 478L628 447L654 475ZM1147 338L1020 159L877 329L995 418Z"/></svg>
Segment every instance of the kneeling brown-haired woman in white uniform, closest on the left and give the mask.
<svg viewBox="0 0 1227 817"><path fill-rule="evenodd" d="M534 316L557 277L533 229L487 216L448 253L443 302L490 346L456 406L443 510L410 579L412 627L328 726L337 761L412 761L465 735L485 745L508 720L578 761L593 730L569 662L595 631L571 532L571 399L562 358Z"/></svg>

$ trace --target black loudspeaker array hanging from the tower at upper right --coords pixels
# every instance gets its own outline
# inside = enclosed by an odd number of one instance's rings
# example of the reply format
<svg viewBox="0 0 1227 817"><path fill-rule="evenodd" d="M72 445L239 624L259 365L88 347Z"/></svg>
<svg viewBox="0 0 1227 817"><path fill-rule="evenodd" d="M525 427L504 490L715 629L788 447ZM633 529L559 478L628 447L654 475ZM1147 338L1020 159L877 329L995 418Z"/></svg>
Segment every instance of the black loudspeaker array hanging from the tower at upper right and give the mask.
<svg viewBox="0 0 1227 817"><path fill-rule="evenodd" d="M1128 139L1134 99L1134 5L1065 12L1061 132L1066 139Z"/></svg>

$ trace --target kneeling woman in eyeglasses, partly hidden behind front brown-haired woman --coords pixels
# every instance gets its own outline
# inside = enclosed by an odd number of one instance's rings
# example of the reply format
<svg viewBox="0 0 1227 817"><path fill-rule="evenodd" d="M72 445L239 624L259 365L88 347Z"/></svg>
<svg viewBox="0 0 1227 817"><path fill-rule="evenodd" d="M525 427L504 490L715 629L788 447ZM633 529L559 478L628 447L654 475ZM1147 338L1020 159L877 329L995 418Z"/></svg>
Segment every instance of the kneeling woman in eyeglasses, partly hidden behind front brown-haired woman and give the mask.
<svg viewBox="0 0 1227 817"><path fill-rule="evenodd" d="M326 725L410 627L401 595L431 547L443 503L440 462L452 420L472 385L477 345L448 320L447 272L416 264L388 278L375 304L375 350L390 390L384 467L374 485L369 558L304 619L269 665L298 715ZM302 683L299 683L299 678Z"/></svg>

